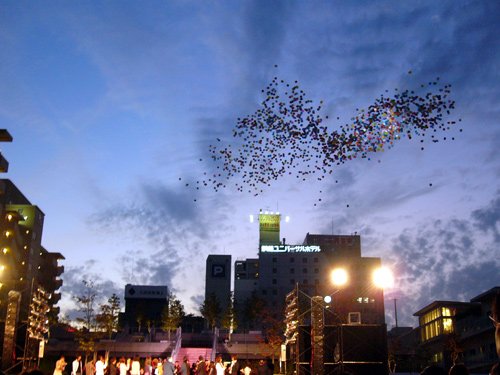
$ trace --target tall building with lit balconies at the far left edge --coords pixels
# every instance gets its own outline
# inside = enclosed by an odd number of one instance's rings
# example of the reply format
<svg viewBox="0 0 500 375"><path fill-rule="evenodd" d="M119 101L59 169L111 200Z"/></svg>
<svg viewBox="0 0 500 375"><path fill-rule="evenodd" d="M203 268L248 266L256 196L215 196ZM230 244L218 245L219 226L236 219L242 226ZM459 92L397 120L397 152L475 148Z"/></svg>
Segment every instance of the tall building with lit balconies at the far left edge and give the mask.
<svg viewBox="0 0 500 375"><path fill-rule="evenodd" d="M48 319L58 313L54 305L61 298L56 291L64 271L58 261L64 257L42 246L44 216L10 180L0 180L3 369L19 366L15 369L20 371L37 359Z"/></svg>

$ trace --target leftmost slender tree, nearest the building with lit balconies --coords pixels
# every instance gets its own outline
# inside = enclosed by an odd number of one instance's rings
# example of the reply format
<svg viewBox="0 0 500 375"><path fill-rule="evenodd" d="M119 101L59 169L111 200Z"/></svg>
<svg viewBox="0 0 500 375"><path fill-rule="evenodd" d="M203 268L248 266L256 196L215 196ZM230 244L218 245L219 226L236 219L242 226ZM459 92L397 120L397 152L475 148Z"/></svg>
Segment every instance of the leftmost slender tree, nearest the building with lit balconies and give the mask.
<svg viewBox="0 0 500 375"><path fill-rule="evenodd" d="M97 297L97 288L92 280L82 280L85 290L81 296L73 296L76 300L78 312L83 313L83 318L76 318L81 327L76 331L78 349L88 353L96 350L96 341L99 338L97 332L97 319L94 311L94 302Z"/></svg>

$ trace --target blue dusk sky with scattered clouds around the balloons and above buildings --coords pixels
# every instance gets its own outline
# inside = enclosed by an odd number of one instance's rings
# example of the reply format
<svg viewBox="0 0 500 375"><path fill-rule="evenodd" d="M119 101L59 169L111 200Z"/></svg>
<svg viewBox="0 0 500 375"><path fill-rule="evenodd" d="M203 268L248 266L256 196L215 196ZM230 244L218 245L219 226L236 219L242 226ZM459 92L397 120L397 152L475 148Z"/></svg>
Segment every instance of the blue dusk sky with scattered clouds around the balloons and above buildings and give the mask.
<svg viewBox="0 0 500 375"><path fill-rule="evenodd" d="M61 311L78 316L85 279L102 298L167 285L199 315L207 256L256 257L260 209L290 216L290 244L359 234L395 277L389 328L394 299L399 326L415 327L434 300L500 285L498 19L494 0L0 2L0 127L14 138L2 177L45 213L42 245L65 257ZM258 195L238 191L238 173L196 184L274 77L322 101L332 131L439 77L455 123L437 143L402 138Z"/></svg>

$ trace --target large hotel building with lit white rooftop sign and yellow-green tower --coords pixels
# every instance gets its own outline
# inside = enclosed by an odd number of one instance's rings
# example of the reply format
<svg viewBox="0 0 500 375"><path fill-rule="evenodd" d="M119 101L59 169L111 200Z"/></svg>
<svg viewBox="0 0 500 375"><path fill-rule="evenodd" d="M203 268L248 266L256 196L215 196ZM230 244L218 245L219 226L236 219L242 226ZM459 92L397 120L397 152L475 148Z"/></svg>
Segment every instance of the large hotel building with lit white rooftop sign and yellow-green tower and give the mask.
<svg viewBox="0 0 500 375"><path fill-rule="evenodd" d="M383 290L372 278L381 261L361 256L360 236L308 233L302 244L288 245L279 241L280 220L279 214L262 213L258 258L235 262L234 295L239 306L257 292L267 308L282 314L286 295L298 286L309 296L332 296L330 309L344 322L356 312L362 323L385 324ZM338 268L348 277L342 287L331 280Z"/></svg>

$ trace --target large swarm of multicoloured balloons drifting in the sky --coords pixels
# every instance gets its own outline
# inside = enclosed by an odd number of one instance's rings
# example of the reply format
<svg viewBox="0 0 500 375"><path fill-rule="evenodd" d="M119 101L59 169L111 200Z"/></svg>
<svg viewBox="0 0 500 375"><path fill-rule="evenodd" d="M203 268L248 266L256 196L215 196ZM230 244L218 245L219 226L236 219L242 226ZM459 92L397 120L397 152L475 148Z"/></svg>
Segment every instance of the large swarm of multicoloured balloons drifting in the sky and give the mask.
<svg viewBox="0 0 500 375"><path fill-rule="evenodd" d="M340 126L340 131L329 131L319 114L323 102L314 105L297 81L289 84L275 77L262 90L262 108L238 118L233 129L238 138L235 146L224 145L219 138L210 145L218 172L205 173L205 179L197 183L218 191L233 180L237 190L258 195L285 175L321 181L336 165L357 157L369 159L370 153L390 149L403 137L423 142L426 133L431 133L432 141L438 142L432 133L455 124L443 121L444 114L454 109L454 101L448 99L451 85L438 82L439 78L429 82L433 90L425 95L398 89L391 97L381 95L368 108L357 110L359 114Z"/></svg>

